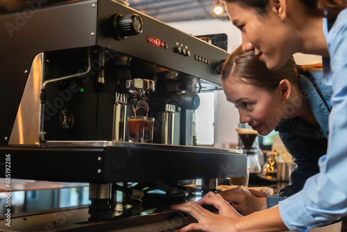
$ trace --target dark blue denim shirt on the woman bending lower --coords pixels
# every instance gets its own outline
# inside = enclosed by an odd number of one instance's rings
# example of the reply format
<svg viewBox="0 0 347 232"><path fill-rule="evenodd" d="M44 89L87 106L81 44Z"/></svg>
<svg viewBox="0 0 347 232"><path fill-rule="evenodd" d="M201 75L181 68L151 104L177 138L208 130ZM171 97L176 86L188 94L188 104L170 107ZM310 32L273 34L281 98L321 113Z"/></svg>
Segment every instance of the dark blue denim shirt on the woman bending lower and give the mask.
<svg viewBox="0 0 347 232"><path fill-rule="evenodd" d="M319 172L318 160L326 154L332 87L323 83L323 72L315 71L310 72L310 74L321 95L317 92L312 81L306 76L301 75L298 87L310 104L319 126L312 126L298 117L294 117L282 119L276 127L275 130L279 132L280 139L289 154L294 156L294 162L298 166L291 172L289 185L283 187L279 194L269 196L266 199L267 208L276 206L278 201L300 191L305 181Z"/></svg>

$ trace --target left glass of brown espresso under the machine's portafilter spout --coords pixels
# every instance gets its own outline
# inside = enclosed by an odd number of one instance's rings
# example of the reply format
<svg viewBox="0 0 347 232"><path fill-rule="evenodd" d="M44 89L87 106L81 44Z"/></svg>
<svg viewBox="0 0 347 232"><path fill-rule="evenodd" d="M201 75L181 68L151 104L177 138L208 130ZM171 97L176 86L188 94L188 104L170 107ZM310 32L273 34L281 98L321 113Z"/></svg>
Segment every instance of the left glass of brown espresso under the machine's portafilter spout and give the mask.
<svg viewBox="0 0 347 232"><path fill-rule="evenodd" d="M144 142L144 116L128 116L129 142Z"/></svg>

